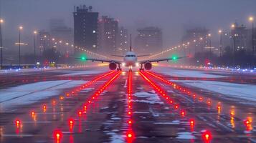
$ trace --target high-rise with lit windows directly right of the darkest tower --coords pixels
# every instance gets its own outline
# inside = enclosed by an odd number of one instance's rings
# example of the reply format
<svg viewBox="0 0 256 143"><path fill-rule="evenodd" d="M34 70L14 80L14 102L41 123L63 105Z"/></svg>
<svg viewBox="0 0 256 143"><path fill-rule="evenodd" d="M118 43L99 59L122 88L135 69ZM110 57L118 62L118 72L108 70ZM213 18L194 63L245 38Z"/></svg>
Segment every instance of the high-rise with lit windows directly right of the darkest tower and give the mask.
<svg viewBox="0 0 256 143"><path fill-rule="evenodd" d="M116 54L118 51L118 21L102 16L99 20L99 47L106 54Z"/></svg>

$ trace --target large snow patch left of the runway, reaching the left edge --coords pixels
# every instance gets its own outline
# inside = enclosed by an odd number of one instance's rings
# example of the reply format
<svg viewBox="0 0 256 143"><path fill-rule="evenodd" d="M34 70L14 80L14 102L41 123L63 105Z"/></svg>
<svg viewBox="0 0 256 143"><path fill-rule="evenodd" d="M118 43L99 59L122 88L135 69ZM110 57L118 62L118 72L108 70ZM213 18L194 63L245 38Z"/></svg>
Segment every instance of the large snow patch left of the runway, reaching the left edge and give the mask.
<svg viewBox="0 0 256 143"><path fill-rule="evenodd" d="M0 111L17 105L32 104L40 99L55 96L61 93L62 89L76 87L85 84L87 81L47 81L24 84L18 87L11 87L0 90Z"/></svg>

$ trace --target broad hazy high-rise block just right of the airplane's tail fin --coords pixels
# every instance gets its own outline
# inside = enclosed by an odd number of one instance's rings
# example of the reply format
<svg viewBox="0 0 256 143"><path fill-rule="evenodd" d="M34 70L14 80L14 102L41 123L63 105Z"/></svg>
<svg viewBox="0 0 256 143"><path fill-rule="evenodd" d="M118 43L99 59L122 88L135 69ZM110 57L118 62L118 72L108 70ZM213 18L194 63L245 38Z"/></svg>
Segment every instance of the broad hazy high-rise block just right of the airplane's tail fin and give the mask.
<svg viewBox="0 0 256 143"><path fill-rule="evenodd" d="M163 50L162 31L158 27L146 27L138 29L135 39L136 49L143 54L155 54Z"/></svg>

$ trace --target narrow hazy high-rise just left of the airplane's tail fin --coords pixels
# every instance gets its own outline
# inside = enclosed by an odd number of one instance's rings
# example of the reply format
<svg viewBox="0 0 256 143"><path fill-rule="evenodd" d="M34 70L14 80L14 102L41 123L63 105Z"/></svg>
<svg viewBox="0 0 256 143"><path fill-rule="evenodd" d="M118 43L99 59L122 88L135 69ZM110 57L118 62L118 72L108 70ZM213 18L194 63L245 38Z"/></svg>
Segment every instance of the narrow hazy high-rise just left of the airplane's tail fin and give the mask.
<svg viewBox="0 0 256 143"><path fill-rule="evenodd" d="M121 26L118 30L118 52L117 54L124 54L129 49L128 45L128 30Z"/></svg>

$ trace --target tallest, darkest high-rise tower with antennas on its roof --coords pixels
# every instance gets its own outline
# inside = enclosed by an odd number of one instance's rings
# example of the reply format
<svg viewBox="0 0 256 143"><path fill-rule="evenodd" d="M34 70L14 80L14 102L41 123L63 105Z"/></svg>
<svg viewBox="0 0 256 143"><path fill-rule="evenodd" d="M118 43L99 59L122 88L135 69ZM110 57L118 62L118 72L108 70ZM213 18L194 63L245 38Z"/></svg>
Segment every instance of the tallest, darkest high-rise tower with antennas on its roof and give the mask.
<svg viewBox="0 0 256 143"><path fill-rule="evenodd" d="M92 6L77 6L74 15L74 46L98 51L98 12ZM75 54L80 51L75 49Z"/></svg>

